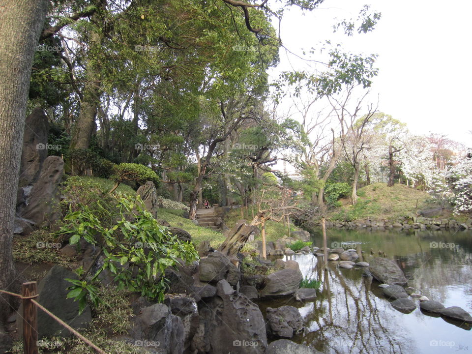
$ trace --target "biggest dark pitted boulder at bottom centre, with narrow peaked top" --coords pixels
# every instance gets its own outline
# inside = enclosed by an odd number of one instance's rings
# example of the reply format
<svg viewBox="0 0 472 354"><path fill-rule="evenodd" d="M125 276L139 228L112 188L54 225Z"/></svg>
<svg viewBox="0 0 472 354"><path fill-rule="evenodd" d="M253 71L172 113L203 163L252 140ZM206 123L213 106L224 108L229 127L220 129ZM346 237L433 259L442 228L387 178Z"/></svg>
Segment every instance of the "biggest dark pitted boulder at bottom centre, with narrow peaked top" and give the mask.
<svg viewBox="0 0 472 354"><path fill-rule="evenodd" d="M224 279L216 288L214 297L198 304L192 353L265 354L266 325L259 307Z"/></svg>

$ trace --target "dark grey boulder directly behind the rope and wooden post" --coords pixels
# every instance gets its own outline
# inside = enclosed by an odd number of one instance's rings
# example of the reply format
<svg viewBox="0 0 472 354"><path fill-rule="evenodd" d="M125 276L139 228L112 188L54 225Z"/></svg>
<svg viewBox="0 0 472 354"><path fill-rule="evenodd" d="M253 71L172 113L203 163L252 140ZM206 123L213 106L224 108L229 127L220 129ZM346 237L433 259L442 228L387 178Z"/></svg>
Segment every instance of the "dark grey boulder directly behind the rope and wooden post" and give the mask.
<svg viewBox="0 0 472 354"><path fill-rule="evenodd" d="M90 308L87 306L79 315L79 303L73 298L67 298L69 292L67 288L72 284L65 280L66 278L78 279L77 275L70 270L61 266L53 266L38 284L37 301L72 328L87 328L92 319ZM18 313L23 313L23 305L20 306ZM19 333L23 333L23 318L21 316L18 316L16 324ZM52 317L38 310L38 339L56 334L61 337L73 336L68 329L65 329Z"/></svg>

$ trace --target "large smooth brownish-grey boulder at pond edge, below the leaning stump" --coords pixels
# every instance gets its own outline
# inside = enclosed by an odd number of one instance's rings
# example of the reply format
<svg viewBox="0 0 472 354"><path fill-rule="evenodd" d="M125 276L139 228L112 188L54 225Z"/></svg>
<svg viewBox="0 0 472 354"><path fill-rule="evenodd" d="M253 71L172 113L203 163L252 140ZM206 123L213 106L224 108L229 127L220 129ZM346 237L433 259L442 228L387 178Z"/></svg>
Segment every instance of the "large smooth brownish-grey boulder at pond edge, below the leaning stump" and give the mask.
<svg viewBox="0 0 472 354"><path fill-rule="evenodd" d="M300 286L302 279L303 275L298 268L298 263L295 261L287 261L286 268L277 270L266 276L265 286L259 292L259 296L292 295Z"/></svg>

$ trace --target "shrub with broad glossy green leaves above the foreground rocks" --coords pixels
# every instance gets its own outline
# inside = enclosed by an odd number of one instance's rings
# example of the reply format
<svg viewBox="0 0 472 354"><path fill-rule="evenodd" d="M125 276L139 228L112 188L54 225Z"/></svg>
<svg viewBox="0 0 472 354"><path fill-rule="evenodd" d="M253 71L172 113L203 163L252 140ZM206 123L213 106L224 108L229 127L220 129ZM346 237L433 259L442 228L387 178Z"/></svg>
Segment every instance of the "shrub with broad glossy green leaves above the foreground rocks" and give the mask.
<svg viewBox="0 0 472 354"><path fill-rule="evenodd" d="M149 213L139 197L128 200L121 194L115 196L117 213L102 210L99 217L88 206L71 211L64 221L66 225L58 235L69 236L69 243L76 244L83 237L87 242L101 247L104 261L89 281L81 274L73 284L68 297L79 302L89 295L92 302L99 303L96 283L99 274L109 271L118 284L118 289L140 292L150 299L164 300L167 267L175 266L178 259L192 262L198 259L191 243L181 241L169 230L160 226ZM118 218L117 218L118 216ZM102 222L113 220L110 227Z"/></svg>

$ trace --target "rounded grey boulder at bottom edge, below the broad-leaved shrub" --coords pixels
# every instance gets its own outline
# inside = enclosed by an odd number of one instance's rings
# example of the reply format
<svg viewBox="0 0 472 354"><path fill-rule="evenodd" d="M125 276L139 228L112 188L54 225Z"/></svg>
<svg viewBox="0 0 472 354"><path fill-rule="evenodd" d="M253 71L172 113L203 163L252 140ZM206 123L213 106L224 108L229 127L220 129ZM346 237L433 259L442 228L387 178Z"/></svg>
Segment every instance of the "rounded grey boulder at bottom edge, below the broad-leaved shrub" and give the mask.
<svg viewBox="0 0 472 354"><path fill-rule="evenodd" d="M156 303L141 309L141 313L131 319L131 324L129 343L161 354L183 353L182 320L165 304Z"/></svg>

